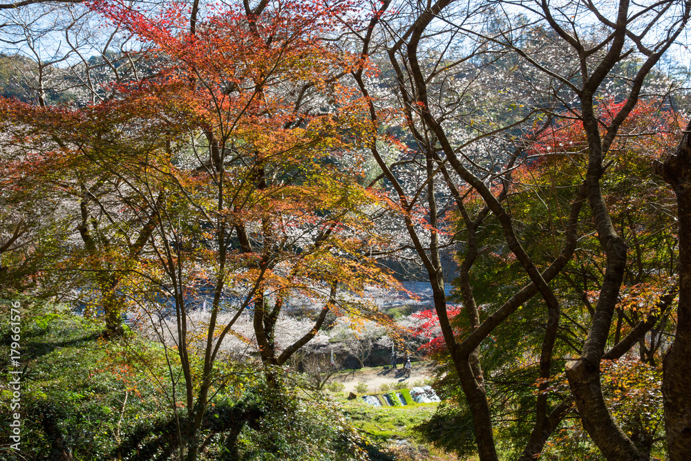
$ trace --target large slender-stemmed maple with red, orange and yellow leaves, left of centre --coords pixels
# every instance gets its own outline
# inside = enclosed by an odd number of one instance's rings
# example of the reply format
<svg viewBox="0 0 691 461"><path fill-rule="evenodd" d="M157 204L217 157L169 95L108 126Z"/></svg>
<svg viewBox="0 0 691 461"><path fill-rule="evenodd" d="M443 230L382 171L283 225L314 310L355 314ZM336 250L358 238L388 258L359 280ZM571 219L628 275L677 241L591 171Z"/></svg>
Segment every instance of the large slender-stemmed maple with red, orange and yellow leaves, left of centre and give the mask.
<svg viewBox="0 0 691 461"><path fill-rule="evenodd" d="M193 11L188 29L178 5L95 8L144 42L153 76L116 84L117 97L84 109L6 102L6 113L30 127L33 140L55 140L53 158L81 159L120 185L117 205L103 204L102 212L119 214L109 220L116 228L137 218L142 233L129 240L135 264L110 273L142 287L142 296L129 297L154 304L163 297L175 307L187 409L180 456L187 451L192 460L209 401L223 385L215 367L221 344L245 310L275 388L274 368L316 335L329 312L383 319L352 298L365 285L389 283L364 251L379 240L368 213L380 205L361 185L353 152L370 124L359 116L361 100L338 82L354 58L323 41L352 11L261 3L205 17ZM200 285L212 288L213 300L198 352L187 300ZM296 296L319 310L309 332L279 349L276 320ZM219 324L225 310L234 316Z"/></svg>

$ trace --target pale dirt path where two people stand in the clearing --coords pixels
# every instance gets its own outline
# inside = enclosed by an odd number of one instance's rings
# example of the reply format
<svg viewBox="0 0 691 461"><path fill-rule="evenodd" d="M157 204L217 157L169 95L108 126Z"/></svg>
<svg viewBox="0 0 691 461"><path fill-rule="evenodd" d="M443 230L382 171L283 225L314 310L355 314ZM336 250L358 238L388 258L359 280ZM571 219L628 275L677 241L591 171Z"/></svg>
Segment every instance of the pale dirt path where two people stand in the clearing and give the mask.
<svg viewBox="0 0 691 461"><path fill-rule="evenodd" d="M359 382L368 385L368 392L378 392L381 384L395 384L397 382L408 383L408 388L413 387L416 381L422 381L432 375L432 366L428 361L419 361L413 364L410 377L406 377L403 365L391 369L390 366L377 366L373 368L361 368L348 372L339 372L334 375L331 382L341 382L345 385L345 393L355 392L355 386Z"/></svg>

